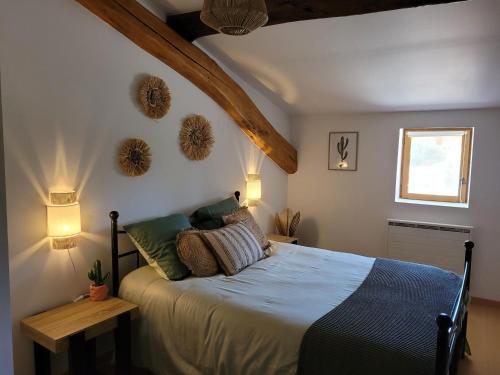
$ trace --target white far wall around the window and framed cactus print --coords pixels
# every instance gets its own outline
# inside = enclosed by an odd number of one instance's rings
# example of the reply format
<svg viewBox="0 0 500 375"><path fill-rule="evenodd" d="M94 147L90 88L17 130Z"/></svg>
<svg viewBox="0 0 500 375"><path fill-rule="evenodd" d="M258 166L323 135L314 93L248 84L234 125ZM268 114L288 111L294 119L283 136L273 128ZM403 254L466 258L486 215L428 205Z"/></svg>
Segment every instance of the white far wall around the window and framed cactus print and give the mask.
<svg viewBox="0 0 500 375"><path fill-rule="evenodd" d="M475 126L470 208L394 203L402 127ZM357 172L328 170L328 133L359 131ZM289 177L288 206L300 210L305 244L387 256L386 219L473 225L472 294L500 300L500 110L299 117L299 170Z"/></svg>

